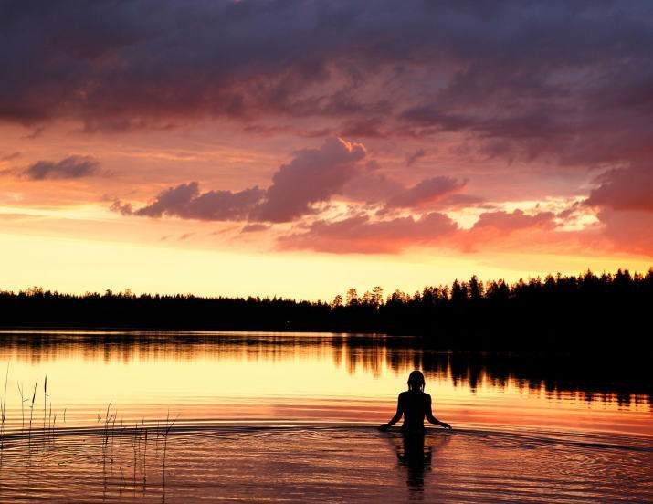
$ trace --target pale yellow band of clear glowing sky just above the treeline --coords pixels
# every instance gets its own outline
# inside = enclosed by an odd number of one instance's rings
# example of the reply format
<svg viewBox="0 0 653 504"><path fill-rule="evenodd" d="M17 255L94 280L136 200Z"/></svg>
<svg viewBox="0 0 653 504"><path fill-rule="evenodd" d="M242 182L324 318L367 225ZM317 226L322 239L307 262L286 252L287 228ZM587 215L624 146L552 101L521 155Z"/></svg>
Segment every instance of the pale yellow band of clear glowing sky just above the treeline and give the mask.
<svg viewBox="0 0 653 504"><path fill-rule="evenodd" d="M376 285L386 292L421 290L478 275L483 280L544 277L549 273L578 274L617 268L647 271L645 259L496 255L348 255L287 252L233 252L207 247L158 243L124 243L60 236L0 234L3 250L1 289L32 286L59 292L193 293L205 296L281 296L331 300L353 287ZM539 265L548 265L542 267Z"/></svg>

